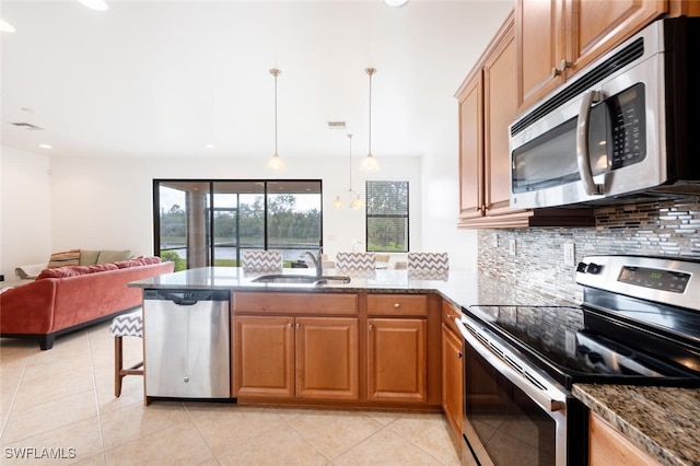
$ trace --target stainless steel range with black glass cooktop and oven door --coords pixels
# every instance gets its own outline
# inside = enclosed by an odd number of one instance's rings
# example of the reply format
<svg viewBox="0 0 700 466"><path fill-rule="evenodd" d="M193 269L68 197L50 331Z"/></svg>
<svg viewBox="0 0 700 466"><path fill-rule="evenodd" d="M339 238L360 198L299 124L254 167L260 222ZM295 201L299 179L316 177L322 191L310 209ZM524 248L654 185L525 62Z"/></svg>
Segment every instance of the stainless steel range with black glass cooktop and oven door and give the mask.
<svg viewBox="0 0 700 466"><path fill-rule="evenodd" d="M466 459L586 464L576 382L700 387L700 261L591 256L576 282L581 306L475 305L458 321Z"/></svg>

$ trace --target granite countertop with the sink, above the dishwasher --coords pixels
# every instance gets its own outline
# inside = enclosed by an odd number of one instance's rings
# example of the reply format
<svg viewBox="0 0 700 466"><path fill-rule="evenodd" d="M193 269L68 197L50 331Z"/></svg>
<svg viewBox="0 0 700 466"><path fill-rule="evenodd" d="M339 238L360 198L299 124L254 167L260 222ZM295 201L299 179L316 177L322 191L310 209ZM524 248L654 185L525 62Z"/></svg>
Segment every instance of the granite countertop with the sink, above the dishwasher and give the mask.
<svg viewBox="0 0 700 466"><path fill-rule="evenodd" d="M324 269L324 276L350 277L349 283L259 283L253 281L265 272L244 271L241 267L200 267L166 273L129 283L131 288L168 290L236 290L236 291L295 291L315 293L434 293L457 306L478 302L477 272L462 270L394 270L339 271ZM283 269L282 275L314 276L313 269Z"/></svg>

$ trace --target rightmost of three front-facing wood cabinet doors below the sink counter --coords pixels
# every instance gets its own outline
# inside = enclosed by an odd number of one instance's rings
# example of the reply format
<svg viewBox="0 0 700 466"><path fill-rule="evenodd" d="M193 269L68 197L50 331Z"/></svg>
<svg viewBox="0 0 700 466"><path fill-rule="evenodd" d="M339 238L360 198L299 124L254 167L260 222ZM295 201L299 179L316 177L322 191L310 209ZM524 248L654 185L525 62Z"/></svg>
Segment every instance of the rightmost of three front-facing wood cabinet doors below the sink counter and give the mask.
<svg viewBox="0 0 700 466"><path fill-rule="evenodd" d="M368 319L368 399L424 403L428 399L427 322Z"/></svg>

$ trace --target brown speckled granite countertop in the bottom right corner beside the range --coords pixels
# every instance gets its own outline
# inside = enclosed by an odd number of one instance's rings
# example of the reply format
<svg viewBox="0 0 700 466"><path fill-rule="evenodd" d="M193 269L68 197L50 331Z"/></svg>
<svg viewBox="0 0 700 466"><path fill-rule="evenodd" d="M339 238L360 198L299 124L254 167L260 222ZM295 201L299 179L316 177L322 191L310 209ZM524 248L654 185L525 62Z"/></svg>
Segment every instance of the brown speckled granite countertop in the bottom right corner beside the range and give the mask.
<svg viewBox="0 0 700 466"><path fill-rule="evenodd" d="M661 464L700 464L697 388L574 384L572 392Z"/></svg>

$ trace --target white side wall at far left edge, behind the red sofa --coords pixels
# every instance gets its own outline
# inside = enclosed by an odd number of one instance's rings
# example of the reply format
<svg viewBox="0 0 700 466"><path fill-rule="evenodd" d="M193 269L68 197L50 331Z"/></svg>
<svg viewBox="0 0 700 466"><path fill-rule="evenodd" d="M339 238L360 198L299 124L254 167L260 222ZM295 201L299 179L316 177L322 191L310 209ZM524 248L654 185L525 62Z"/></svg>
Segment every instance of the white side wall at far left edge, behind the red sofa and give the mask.
<svg viewBox="0 0 700 466"><path fill-rule="evenodd" d="M0 151L0 273L14 279L20 265L51 254L49 159L2 147Z"/></svg>

